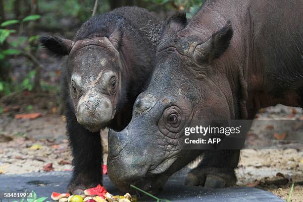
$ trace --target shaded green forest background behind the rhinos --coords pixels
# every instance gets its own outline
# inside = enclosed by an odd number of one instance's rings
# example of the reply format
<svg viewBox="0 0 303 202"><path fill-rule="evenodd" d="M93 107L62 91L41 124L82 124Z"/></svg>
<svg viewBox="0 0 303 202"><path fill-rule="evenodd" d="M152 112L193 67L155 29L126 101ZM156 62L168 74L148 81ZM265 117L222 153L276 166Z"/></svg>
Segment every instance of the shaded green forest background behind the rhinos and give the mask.
<svg viewBox="0 0 303 202"><path fill-rule="evenodd" d="M160 19L185 11L191 18L203 0L97 0L96 15L125 5L145 7ZM88 20L96 0L0 0L0 114L3 103L30 94L60 95L62 60L53 58L39 44L39 37L53 34L72 39ZM59 101L58 101L59 102ZM59 103L58 103L59 104ZM31 109L31 105L29 110Z"/></svg>

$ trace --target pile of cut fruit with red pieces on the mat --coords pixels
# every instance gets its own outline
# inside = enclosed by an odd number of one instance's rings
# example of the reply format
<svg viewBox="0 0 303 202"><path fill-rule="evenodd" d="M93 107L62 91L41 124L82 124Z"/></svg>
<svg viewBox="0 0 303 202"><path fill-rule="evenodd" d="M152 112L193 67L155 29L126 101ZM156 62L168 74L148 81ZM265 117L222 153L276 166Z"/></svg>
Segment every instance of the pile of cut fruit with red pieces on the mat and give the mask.
<svg viewBox="0 0 303 202"><path fill-rule="evenodd" d="M126 193L124 196L113 196L101 185L84 190L83 195L53 192L51 194L51 199L59 202L136 202L129 193Z"/></svg>

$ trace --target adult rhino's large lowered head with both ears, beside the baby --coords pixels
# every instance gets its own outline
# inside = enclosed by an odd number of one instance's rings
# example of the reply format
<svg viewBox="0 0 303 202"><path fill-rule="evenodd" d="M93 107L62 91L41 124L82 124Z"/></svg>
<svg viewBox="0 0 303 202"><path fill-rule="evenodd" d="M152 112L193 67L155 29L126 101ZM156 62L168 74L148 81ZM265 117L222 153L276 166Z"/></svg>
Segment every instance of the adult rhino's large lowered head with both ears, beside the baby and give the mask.
<svg viewBox="0 0 303 202"><path fill-rule="evenodd" d="M186 26L185 15L166 21L148 89L138 96L129 125L109 132L108 174L123 191L130 184L157 191L201 153L181 148L193 120L208 120L208 126L235 118L238 101L226 78L229 64L221 60L233 36L231 23L205 39Z"/></svg>

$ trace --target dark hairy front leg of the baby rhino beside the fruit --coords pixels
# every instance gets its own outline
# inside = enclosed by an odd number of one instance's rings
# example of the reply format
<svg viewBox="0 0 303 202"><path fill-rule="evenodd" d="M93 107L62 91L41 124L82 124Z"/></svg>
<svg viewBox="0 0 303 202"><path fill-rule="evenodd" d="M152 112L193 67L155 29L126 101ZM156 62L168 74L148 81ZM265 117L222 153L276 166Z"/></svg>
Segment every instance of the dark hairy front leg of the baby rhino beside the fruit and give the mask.
<svg viewBox="0 0 303 202"><path fill-rule="evenodd" d="M73 176L67 187L72 194L102 183L102 146L100 132L92 133L77 122L74 113L66 113L67 132L73 155Z"/></svg>

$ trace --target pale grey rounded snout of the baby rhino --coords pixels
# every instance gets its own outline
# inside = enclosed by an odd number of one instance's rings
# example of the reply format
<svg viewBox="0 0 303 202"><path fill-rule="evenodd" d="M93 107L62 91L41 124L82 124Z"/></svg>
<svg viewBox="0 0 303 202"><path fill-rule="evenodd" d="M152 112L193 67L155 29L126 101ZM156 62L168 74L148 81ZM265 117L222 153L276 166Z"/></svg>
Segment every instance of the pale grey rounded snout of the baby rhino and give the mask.
<svg viewBox="0 0 303 202"><path fill-rule="evenodd" d="M113 118L113 107L104 96L89 96L79 100L76 118L79 124L92 132L98 132Z"/></svg>

